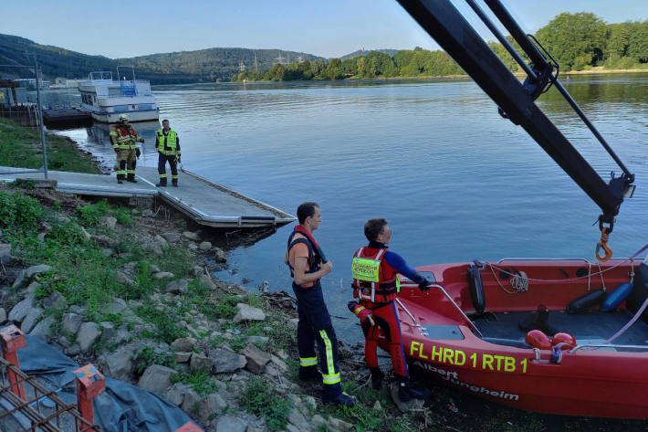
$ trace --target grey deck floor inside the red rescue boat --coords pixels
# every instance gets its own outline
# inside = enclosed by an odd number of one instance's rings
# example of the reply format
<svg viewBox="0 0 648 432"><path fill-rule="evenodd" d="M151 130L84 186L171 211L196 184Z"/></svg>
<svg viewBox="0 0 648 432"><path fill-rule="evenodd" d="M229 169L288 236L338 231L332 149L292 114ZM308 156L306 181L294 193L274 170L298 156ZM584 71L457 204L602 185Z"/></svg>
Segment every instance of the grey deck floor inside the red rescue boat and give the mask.
<svg viewBox="0 0 648 432"><path fill-rule="evenodd" d="M477 318L474 322L485 337L513 339L524 341L527 332L520 330L517 323L530 312L496 313L497 320L486 321ZM632 313L620 311L588 311L570 315L564 311L550 311L549 325L559 332L572 334L577 342L604 341L618 332L632 319ZM624 345L648 344L648 324L637 320L632 326L612 343Z"/></svg>

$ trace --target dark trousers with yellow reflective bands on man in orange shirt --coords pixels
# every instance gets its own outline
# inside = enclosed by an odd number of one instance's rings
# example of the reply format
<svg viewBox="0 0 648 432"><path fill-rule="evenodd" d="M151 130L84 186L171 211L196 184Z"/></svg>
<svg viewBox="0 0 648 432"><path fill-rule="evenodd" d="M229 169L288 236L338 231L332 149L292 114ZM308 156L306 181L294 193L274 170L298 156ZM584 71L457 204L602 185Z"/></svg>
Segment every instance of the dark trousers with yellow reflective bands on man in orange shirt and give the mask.
<svg viewBox="0 0 648 432"><path fill-rule="evenodd" d="M329 310L324 303L319 281L313 287L301 288L293 282L292 289L297 297L297 345L299 367L317 367L315 343L318 345L319 368L325 396L339 395L340 368L338 366L338 338L330 321Z"/></svg>

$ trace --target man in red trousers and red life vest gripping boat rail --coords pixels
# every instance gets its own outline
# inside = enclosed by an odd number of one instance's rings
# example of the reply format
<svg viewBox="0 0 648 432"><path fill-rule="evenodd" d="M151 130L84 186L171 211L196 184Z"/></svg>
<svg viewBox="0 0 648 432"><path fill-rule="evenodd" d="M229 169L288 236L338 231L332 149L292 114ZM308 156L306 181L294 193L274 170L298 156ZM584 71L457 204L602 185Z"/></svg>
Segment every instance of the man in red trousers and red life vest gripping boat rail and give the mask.
<svg viewBox="0 0 648 432"><path fill-rule="evenodd" d="M401 325L394 300L400 290L398 274L412 279L421 290L430 290L430 283L410 268L398 254L388 250L392 238L386 219L370 219L364 224L364 235L369 245L353 255L353 297L348 307L361 318L365 337L364 357L371 370L371 385L380 389L383 374L378 366L378 341L383 335L389 345L392 367L399 381L398 394L402 402L413 398L424 399L429 392L409 383L409 373L402 349Z"/></svg>

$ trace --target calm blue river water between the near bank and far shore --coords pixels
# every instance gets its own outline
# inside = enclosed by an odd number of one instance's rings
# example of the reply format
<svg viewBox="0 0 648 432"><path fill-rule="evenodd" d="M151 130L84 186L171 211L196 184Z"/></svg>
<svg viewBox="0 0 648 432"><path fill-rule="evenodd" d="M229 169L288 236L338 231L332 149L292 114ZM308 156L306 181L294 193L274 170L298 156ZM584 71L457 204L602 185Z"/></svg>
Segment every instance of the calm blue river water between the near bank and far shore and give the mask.
<svg viewBox="0 0 648 432"><path fill-rule="evenodd" d="M563 81L636 174L610 246L627 257L648 242L648 74ZM350 258L370 217L386 217L392 250L412 266L525 258L594 258L600 211L524 130L502 119L467 79L189 85L154 89L179 133L186 169L295 213L319 202L316 232L333 263L331 313L350 316ZM605 179L619 169L556 90L538 105ZM141 163L155 166L157 123ZM61 132L112 163L107 126ZM229 253L215 273L290 292L283 264L291 226ZM336 320L336 326L349 321ZM360 333L360 332L358 332ZM360 334L349 335L354 340ZM342 334L344 337L344 334Z"/></svg>

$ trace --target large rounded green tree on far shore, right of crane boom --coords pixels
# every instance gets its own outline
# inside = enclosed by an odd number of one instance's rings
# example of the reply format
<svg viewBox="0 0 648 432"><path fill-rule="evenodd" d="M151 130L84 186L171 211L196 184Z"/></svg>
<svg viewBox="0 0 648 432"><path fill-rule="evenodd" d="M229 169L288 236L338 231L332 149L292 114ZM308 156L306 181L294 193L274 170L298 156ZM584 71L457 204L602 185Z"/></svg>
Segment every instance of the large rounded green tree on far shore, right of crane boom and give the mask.
<svg viewBox="0 0 648 432"><path fill-rule="evenodd" d="M591 66L603 57L607 26L594 14L563 12L547 26L538 30L536 37L559 62L560 68ZM578 62L577 62L578 58Z"/></svg>

